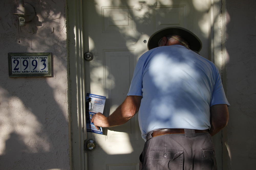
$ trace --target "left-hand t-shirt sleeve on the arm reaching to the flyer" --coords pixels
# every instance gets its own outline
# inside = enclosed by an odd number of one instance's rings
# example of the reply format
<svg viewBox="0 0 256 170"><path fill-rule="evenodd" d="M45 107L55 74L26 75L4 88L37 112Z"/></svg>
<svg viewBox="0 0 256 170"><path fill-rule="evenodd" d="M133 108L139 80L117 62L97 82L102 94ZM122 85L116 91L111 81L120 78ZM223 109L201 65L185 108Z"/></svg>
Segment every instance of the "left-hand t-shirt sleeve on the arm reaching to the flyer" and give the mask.
<svg viewBox="0 0 256 170"><path fill-rule="evenodd" d="M142 96L143 67L143 61L139 59L134 69L131 86L127 96Z"/></svg>

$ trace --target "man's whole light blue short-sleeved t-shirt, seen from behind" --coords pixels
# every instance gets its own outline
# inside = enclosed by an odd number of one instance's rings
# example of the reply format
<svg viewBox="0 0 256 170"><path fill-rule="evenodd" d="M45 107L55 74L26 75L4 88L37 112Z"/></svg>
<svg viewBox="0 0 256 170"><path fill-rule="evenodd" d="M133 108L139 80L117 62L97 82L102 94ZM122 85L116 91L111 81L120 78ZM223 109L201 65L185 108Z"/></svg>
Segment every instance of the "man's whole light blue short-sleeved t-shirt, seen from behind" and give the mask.
<svg viewBox="0 0 256 170"><path fill-rule="evenodd" d="M142 138L154 129L210 128L210 107L228 104L218 69L182 45L162 46L138 60L127 96L142 96Z"/></svg>

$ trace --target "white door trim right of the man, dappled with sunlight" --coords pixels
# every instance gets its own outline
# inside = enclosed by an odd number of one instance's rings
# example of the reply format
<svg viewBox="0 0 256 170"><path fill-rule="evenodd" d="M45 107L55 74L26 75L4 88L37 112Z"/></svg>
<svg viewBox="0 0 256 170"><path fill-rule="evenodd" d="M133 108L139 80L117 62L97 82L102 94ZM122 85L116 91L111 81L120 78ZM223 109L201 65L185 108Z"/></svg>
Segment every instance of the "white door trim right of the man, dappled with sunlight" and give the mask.
<svg viewBox="0 0 256 170"><path fill-rule="evenodd" d="M225 2L224 0L211 0L211 61L217 66L221 77L223 87L226 91L226 53L225 53ZM224 4L223 4L224 3ZM226 130L221 130L214 137L216 160L218 169L225 169L223 162L228 156L223 147L223 140L227 136Z"/></svg>

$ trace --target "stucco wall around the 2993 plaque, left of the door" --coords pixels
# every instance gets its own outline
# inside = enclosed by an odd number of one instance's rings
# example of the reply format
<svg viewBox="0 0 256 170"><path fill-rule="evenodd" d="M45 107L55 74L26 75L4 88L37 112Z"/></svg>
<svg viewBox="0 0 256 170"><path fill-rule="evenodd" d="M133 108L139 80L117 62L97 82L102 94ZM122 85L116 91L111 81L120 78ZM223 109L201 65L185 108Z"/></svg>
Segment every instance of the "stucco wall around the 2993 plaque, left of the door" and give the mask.
<svg viewBox="0 0 256 170"><path fill-rule="evenodd" d="M18 1L0 1L0 169L70 169L66 1L25 2L37 14L19 38ZM10 52L52 53L53 77L9 77Z"/></svg>

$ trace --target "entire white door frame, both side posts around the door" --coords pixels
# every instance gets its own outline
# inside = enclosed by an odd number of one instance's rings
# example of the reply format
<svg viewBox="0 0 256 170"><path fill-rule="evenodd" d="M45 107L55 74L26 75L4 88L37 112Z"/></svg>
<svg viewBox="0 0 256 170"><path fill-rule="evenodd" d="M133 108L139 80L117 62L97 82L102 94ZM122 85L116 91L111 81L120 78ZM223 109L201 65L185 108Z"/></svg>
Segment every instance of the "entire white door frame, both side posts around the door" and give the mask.
<svg viewBox="0 0 256 170"><path fill-rule="evenodd" d="M84 0L86 1L86 0ZM85 68L83 54L83 0L67 0L67 51L68 51L68 105L69 105L69 146L70 168L88 169L87 153L84 150L84 140L87 139L85 124ZM211 0L211 36L209 37L209 58L215 63L222 76L226 91L226 6L225 0ZM226 169L228 158L227 128L213 138L216 149L217 166Z"/></svg>

